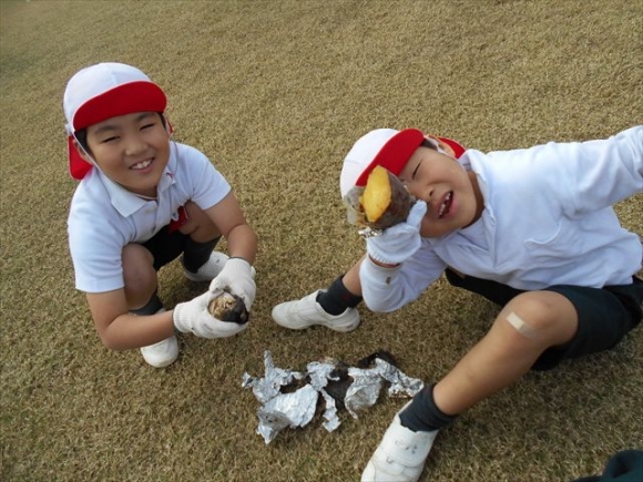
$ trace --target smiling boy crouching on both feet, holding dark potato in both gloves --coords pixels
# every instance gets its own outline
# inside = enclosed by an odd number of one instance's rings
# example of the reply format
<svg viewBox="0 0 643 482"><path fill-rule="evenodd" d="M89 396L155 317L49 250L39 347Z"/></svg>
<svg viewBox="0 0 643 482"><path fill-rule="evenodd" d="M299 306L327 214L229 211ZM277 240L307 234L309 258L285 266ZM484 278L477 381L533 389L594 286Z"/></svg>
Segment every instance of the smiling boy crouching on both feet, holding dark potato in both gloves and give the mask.
<svg viewBox="0 0 643 482"><path fill-rule="evenodd" d="M247 326L215 319L207 305L225 287L249 311L257 249L223 175L172 140L165 106L161 88L122 63L82 69L63 99L70 173L80 181L68 219L75 286L106 347L141 348L160 368L178 356L175 331L218 338ZM222 236L229 258L213 250ZM190 280L212 283L165 311L156 273L178 256Z"/></svg>

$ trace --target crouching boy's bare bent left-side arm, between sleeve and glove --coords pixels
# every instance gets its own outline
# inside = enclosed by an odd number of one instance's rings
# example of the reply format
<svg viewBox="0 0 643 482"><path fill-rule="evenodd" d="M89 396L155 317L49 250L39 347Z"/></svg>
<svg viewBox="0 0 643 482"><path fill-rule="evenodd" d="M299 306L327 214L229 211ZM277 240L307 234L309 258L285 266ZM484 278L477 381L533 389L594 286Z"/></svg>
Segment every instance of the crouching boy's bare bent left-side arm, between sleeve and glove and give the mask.
<svg viewBox="0 0 643 482"><path fill-rule="evenodd" d="M121 351L153 345L174 335L172 311L131 315L124 289L88 293L88 304L103 345Z"/></svg>

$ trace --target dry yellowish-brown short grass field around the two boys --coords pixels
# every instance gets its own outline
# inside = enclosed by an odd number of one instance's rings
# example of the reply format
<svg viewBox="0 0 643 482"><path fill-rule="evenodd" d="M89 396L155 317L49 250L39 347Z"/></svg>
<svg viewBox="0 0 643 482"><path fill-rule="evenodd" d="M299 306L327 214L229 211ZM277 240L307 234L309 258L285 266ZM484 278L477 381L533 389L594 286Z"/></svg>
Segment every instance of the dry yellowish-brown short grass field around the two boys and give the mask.
<svg viewBox="0 0 643 482"><path fill-rule="evenodd" d="M632 0L0 1L0 392L3 481L349 481L400 401L333 433L266 445L242 375L355 361L379 348L443 376L497 308L440 280L347 335L288 331L274 305L327 285L364 250L338 194L361 134L415 126L482 151L609 136L643 120L643 3ZM62 93L80 68L131 63L169 95L175 139L235 187L261 238L252 326L181 338L165 370L112 352L74 289ZM643 196L616 206L643 233ZM169 307L205 289L176 264ZM643 448L643 330L529 373L443 431L422 480L569 481Z"/></svg>

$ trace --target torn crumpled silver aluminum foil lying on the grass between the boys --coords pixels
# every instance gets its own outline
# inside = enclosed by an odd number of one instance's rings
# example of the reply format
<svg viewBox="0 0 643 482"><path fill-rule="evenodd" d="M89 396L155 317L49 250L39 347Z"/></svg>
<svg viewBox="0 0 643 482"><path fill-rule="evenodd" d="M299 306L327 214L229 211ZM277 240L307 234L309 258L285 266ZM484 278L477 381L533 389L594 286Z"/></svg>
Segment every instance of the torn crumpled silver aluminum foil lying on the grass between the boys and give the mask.
<svg viewBox="0 0 643 482"><path fill-rule="evenodd" d="M242 382L242 388L252 388L255 398L262 403L257 410L257 433L268 444L283 429L310 423L318 407L324 407L323 425L331 432L341 423L337 397L339 404L357 419L358 411L377 402L385 383L388 384L389 397L410 398L422 389L425 383L421 380L408 377L395 365L375 355L368 357L374 361L368 368L349 367L338 360L327 359L312 361L305 372L299 372L275 367L271 352L266 350L264 377L256 378L245 372ZM346 378L346 373L349 378Z"/></svg>

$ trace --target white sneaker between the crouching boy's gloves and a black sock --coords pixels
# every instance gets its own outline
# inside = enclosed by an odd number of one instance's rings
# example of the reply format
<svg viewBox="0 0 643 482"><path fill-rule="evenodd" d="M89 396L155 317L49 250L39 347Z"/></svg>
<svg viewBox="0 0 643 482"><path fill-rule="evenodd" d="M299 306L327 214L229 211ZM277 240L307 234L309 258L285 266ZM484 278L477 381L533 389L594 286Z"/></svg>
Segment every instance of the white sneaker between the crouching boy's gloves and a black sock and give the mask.
<svg viewBox="0 0 643 482"><path fill-rule="evenodd" d="M285 328L302 330L324 325L335 331L353 331L359 325L359 311L346 308L341 315L328 315L317 302L319 290L295 301L282 302L273 308L273 319Z"/></svg>

